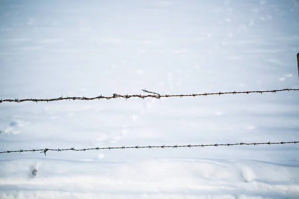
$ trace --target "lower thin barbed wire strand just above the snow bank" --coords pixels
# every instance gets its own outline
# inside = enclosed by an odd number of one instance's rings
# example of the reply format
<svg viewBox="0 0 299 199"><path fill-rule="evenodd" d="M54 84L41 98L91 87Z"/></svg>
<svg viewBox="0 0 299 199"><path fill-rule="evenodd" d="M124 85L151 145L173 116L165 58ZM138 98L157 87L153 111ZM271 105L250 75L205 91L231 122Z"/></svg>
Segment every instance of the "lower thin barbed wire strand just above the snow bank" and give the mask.
<svg viewBox="0 0 299 199"><path fill-rule="evenodd" d="M45 148L45 149L32 149L32 150L17 150L17 151L2 151L0 153L22 153L22 152L36 152L36 151L40 151L40 153L44 153L46 155L46 152L48 151L58 151L58 152L61 152L61 151L88 151L88 150L103 150L103 149L142 149L142 148L181 148L181 147L206 147L206 146L215 146L215 147L218 147L218 146L236 146L236 145L253 145L253 146L256 146L256 145L272 145L272 144L296 144L298 143L299 141L293 141L293 142L259 142L259 143L255 143L255 142L252 142L252 143L244 143L244 142L240 142L240 143L235 143L235 144L198 144L198 145L168 145L168 146L165 146L165 145L162 145L162 146L129 146L129 147L126 147L126 146L121 146L121 147L96 147L96 148L84 148L84 149L75 149L74 147L73 148L69 148L69 149L49 149L49 148Z"/></svg>

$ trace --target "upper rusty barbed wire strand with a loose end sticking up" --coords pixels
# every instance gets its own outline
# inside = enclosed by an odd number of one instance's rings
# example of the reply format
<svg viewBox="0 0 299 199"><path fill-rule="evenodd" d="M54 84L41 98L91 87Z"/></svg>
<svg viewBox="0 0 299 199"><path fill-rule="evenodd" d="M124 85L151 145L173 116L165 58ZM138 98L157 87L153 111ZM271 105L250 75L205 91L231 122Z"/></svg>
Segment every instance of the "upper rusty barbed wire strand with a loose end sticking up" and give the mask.
<svg viewBox="0 0 299 199"><path fill-rule="evenodd" d="M181 95L160 95L158 93L154 93L154 92L149 92L145 89L142 90L143 92L146 92L148 94L153 94L153 95L118 95L118 94L113 94L113 96L97 96L97 97L93 97L93 98L86 98L86 97L60 97L60 98L53 98L53 99L6 99L6 100L0 100L0 103L7 101L7 102L24 102L24 101L33 101L33 102L38 102L38 101L59 101L59 100L101 100L101 99L107 99L107 100L111 100L111 99L116 99L116 98L124 98L126 100L128 100L129 98L140 98L140 99L145 99L145 98L155 98L155 99L161 99L161 98L171 98L171 97L196 97L196 96L211 96L211 95L225 95L225 94L250 94L250 93L276 93L276 92L282 92L282 91L299 91L299 89L281 89L281 90L269 90L269 91L243 91L243 92L218 92L218 93L201 93L201 94L181 94Z"/></svg>

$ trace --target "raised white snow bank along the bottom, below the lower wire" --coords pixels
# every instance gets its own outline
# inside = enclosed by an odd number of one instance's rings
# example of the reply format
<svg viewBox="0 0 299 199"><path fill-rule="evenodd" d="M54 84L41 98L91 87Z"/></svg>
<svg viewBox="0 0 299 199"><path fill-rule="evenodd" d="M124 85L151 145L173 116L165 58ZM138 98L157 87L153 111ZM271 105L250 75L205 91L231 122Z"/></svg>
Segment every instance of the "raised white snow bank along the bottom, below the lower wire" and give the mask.
<svg viewBox="0 0 299 199"><path fill-rule="evenodd" d="M277 199L299 196L299 167L253 160L1 161L1 199ZM34 178L28 173L38 170Z"/></svg>

